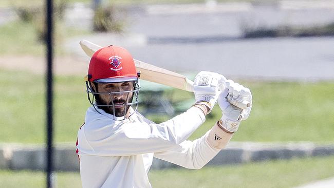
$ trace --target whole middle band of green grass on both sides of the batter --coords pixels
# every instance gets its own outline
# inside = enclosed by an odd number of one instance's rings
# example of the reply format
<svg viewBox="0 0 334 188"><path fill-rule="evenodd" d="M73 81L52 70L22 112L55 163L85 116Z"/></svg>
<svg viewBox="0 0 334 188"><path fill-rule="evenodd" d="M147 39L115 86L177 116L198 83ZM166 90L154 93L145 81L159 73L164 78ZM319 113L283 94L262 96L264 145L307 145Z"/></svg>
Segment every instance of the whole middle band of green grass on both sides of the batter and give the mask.
<svg viewBox="0 0 334 188"><path fill-rule="evenodd" d="M242 84L252 90L253 109L249 119L240 124L233 141L334 141L334 83ZM0 142L44 142L44 88L42 76L1 70ZM75 142L77 130L90 105L83 79L56 77L54 91L55 141ZM173 91L173 100L189 98L193 98L190 92ZM217 105L212 115L190 139L202 136L220 118ZM155 120L160 116L150 118Z"/></svg>

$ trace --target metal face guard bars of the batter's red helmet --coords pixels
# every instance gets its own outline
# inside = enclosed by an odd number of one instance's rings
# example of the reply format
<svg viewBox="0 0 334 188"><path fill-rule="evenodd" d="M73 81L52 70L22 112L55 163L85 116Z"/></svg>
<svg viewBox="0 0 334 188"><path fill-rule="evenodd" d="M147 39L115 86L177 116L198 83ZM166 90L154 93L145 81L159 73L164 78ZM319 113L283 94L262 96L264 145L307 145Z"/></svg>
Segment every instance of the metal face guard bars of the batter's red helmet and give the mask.
<svg viewBox="0 0 334 188"><path fill-rule="evenodd" d="M90 82L86 81L86 89L87 89L86 91L87 91L88 100L89 100L90 104L98 112L99 112L99 110L96 109L96 106L97 107L113 107L113 114L112 115L114 116L114 120L120 120L120 119L116 118L116 115L115 115L115 106L123 106L124 107L124 114L123 114L123 119L121 119L121 120L125 120L125 119L129 118L130 116L132 116L133 114L135 114L135 112L137 111L137 108L138 108L138 103L139 103L138 93L139 93L139 88L140 88L139 78L137 79L137 81L133 81L133 83L134 83L134 87L133 87L133 90L131 90L131 91L96 92L92 88ZM113 95L123 94L123 93L126 93L125 103L124 104L114 104ZM133 93L133 95L134 95L133 97L135 99L135 102L129 101L129 103L128 103L128 99L129 99L130 93ZM104 105L97 104L96 103L96 95L106 95L106 94L109 95L110 100L112 101L112 104L111 105L108 105L108 104L104 104ZM132 106L132 105L136 105L135 110L128 117L126 117L127 106Z"/></svg>

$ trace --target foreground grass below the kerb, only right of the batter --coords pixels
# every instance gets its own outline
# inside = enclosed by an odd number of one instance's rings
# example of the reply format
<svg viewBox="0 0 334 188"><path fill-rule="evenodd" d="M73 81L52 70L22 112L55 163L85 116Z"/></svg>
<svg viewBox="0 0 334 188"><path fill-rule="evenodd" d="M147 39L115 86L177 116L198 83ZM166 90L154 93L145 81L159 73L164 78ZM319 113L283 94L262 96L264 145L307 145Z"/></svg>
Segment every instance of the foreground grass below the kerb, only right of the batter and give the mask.
<svg viewBox="0 0 334 188"><path fill-rule="evenodd" d="M294 187L334 176L334 157L149 173L152 187Z"/></svg>

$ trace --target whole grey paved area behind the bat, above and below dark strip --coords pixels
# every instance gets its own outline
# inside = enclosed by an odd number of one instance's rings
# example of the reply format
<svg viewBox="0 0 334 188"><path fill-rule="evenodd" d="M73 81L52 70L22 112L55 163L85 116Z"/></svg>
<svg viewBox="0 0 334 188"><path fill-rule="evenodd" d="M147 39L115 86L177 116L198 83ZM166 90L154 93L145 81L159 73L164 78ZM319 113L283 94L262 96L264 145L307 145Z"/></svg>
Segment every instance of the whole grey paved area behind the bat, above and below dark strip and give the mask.
<svg viewBox="0 0 334 188"><path fill-rule="evenodd" d="M208 70L231 78L334 80L334 37L240 39L243 24L274 27L334 22L331 1L284 2L130 7L122 35L80 36L66 46L84 57L78 45L81 39L102 46L119 45L136 59L177 72Z"/></svg>

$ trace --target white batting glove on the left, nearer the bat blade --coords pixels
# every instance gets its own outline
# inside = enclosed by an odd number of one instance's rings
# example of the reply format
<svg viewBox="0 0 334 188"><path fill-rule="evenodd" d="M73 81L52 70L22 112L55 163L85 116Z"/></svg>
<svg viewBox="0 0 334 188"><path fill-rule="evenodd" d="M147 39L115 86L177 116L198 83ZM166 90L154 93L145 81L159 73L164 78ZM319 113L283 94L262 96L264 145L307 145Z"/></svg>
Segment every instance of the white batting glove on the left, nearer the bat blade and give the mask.
<svg viewBox="0 0 334 188"><path fill-rule="evenodd" d="M226 78L215 72L201 71L194 80L194 94L196 103L208 102L209 112L216 104L220 93L220 84L225 83Z"/></svg>

